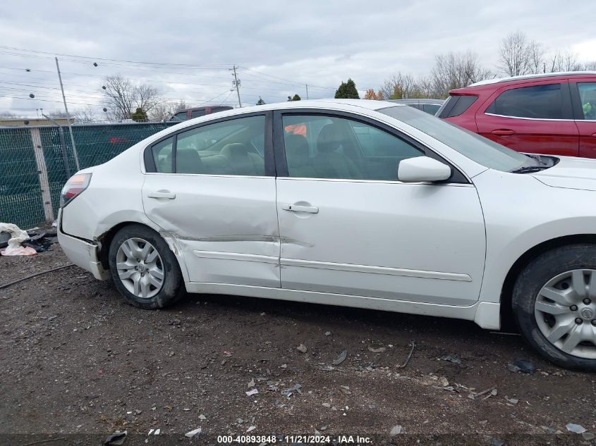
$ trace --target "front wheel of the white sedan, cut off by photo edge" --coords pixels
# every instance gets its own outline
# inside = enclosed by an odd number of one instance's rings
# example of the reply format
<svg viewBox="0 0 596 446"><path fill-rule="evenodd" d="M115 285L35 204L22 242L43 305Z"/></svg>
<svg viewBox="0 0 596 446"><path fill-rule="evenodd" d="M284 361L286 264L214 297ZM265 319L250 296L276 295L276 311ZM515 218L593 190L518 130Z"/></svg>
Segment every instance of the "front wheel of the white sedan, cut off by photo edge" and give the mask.
<svg viewBox="0 0 596 446"><path fill-rule="evenodd" d="M596 371L596 245L537 256L518 275L511 305L523 337L543 357Z"/></svg>

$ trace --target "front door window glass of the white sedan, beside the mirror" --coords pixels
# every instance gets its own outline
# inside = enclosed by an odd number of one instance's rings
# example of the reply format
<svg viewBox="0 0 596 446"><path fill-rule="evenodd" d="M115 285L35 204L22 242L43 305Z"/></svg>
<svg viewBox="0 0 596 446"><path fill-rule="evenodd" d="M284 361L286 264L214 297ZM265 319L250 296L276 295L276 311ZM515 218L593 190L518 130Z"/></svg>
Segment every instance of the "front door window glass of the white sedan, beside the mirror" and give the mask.
<svg viewBox="0 0 596 446"><path fill-rule="evenodd" d="M288 175L294 178L397 180L399 162L423 151L356 120L319 115L283 118Z"/></svg>

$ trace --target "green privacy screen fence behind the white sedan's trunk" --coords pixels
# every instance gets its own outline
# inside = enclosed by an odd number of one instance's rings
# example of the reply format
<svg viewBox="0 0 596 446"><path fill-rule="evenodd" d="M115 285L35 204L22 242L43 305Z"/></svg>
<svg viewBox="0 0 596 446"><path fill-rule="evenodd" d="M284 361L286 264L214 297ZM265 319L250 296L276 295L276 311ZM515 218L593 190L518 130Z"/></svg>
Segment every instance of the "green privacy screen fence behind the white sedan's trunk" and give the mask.
<svg viewBox="0 0 596 446"><path fill-rule="evenodd" d="M73 125L80 168L105 163L170 123ZM0 222L32 228L58 215L76 163L68 128L0 128Z"/></svg>

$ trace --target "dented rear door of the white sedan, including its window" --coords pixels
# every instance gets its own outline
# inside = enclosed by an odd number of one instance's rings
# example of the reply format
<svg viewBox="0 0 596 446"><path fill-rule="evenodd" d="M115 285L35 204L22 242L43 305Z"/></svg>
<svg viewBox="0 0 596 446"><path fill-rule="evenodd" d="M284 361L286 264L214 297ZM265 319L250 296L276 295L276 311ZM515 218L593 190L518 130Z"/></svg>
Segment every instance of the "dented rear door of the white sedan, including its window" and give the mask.
<svg viewBox="0 0 596 446"><path fill-rule="evenodd" d="M145 213L174 240L190 282L279 287L266 116L228 118L154 144ZM270 134L270 132L269 132Z"/></svg>

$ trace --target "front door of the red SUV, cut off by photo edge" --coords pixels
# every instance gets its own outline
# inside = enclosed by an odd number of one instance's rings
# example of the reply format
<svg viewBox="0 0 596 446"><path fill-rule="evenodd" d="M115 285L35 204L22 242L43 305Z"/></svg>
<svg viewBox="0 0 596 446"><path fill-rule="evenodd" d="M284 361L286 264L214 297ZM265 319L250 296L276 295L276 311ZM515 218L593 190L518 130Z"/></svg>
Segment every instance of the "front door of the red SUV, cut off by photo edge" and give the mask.
<svg viewBox="0 0 596 446"><path fill-rule="evenodd" d="M586 78L569 85L580 138L579 156L596 158L596 79Z"/></svg>

